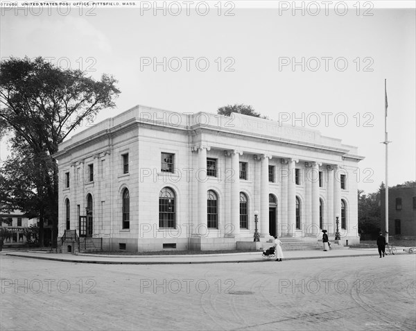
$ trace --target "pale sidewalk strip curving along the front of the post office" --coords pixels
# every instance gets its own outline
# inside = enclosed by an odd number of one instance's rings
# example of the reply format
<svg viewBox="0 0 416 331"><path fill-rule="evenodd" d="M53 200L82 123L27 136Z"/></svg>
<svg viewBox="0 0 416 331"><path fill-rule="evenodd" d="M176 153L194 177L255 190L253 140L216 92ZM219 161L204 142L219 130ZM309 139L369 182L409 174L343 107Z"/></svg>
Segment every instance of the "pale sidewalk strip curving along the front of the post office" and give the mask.
<svg viewBox="0 0 416 331"><path fill-rule="evenodd" d="M76 263L98 263L98 264L202 264L202 263L244 263L274 261L261 257L261 251L252 253L229 253L229 254L207 254L207 255L94 255L94 254L62 254L42 253L35 251L3 251L1 255L28 257L40 260L52 260L60 262ZM403 252L402 247L397 247L398 254ZM356 257L374 256L378 257L376 248L342 249L331 251L286 251L284 261L287 260L309 260L331 257ZM390 255L385 258L391 258Z"/></svg>

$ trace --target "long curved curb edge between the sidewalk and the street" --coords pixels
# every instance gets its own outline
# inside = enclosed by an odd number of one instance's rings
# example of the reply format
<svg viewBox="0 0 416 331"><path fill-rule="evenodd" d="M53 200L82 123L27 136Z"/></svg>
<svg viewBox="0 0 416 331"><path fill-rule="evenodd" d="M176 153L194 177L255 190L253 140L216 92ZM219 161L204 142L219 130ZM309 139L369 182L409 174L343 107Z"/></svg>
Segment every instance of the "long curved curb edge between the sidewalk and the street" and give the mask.
<svg viewBox="0 0 416 331"><path fill-rule="evenodd" d="M407 253L408 254L408 253ZM397 253L395 255L407 255L403 253ZM97 261L97 260L75 260L75 259L60 259L58 257L42 257L42 256L30 256L21 254L2 254L16 257L27 257L37 260L51 260L58 262L70 262L70 263L92 263L92 264L218 264L218 263L252 263L252 262L275 262L270 259L259 259L259 260L227 260L227 261ZM284 261L295 261L295 260L315 260L315 259L330 259L336 257L363 257L373 256L370 254L358 254L358 255L337 255L337 256L312 256L312 257L288 257Z"/></svg>

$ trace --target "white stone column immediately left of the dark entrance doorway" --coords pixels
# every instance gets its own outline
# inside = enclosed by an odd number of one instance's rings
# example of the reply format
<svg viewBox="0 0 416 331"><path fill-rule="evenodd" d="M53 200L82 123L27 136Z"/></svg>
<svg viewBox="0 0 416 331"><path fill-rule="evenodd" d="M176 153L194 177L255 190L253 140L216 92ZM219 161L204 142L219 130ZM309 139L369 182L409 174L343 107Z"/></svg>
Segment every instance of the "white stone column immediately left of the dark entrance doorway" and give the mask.
<svg viewBox="0 0 416 331"><path fill-rule="evenodd" d="M268 184L268 160L272 158L270 155L260 155L261 158L261 208L260 208L260 236L269 237L269 184Z"/></svg>

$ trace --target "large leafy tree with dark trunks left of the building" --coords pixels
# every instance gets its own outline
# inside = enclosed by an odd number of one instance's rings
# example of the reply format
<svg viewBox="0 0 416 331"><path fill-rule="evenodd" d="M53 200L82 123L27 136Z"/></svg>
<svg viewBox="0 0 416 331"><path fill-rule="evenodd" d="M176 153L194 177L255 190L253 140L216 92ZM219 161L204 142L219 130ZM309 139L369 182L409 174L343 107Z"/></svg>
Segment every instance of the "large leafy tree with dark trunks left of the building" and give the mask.
<svg viewBox="0 0 416 331"><path fill-rule="evenodd" d="M58 235L58 166L53 155L82 121L114 108L120 91L112 76L101 80L61 69L43 58L10 58L0 67L0 132L11 134L12 155L0 168L0 205L53 223Z"/></svg>

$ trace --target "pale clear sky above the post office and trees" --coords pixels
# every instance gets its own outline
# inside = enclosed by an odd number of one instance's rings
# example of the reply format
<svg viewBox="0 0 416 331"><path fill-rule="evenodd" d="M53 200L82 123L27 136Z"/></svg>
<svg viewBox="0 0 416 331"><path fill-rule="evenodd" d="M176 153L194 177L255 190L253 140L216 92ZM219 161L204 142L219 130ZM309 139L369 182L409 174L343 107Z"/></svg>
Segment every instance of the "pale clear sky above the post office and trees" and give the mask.
<svg viewBox="0 0 416 331"><path fill-rule="evenodd" d="M1 59L42 56L95 79L112 74L116 108L94 123L138 104L212 113L251 105L358 146L366 193L385 182L386 79L388 184L416 180L415 1L17 2L1 9ZM6 139L0 148L5 160Z"/></svg>

